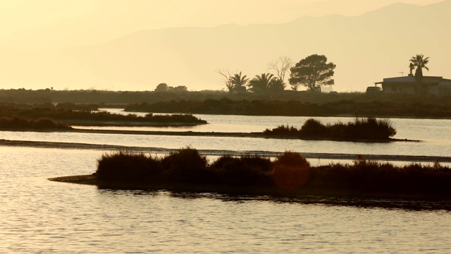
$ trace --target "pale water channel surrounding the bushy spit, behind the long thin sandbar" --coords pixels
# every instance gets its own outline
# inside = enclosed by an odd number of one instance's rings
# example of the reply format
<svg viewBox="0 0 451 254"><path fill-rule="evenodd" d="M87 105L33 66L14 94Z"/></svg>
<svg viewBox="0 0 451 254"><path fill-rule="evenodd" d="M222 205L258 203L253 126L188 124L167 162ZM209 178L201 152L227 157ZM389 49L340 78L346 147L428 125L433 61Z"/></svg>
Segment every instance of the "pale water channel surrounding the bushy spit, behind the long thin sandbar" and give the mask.
<svg viewBox="0 0 451 254"><path fill-rule="evenodd" d="M209 122L207 125L185 128L121 128L152 131L203 131L203 132L261 132L280 124L302 126L307 117L287 116L222 116L196 115ZM353 121L352 118L318 117L323 123ZM85 133L33 133L0 131L6 140L34 140L68 143L92 143L106 145L126 145L137 147L164 147L178 149L191 145L199 150L242 152L285 152L291 150L304 153L330 153L350 155L416 155L448 157L451 155L451 120L447 119L390 119L397 130L395 138L421 140L419 143L357 143L328 140L278 140L261 138L190 137L166 135L117 135ZM106 127L85 127L101 128ZM106 128L108 129L108 128Z"/></svg>

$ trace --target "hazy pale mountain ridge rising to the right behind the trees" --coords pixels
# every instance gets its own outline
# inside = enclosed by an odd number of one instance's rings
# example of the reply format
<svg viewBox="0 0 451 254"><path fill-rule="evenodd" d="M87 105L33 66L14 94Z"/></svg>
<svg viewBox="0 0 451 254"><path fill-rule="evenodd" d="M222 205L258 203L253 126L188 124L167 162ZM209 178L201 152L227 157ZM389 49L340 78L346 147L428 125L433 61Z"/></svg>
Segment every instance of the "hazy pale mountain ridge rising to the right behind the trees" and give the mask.
<svg viewBox="0 0 451 254"><path fill-rule="evenodd" d="M26 54L4 50L0 82L114 90L154 90L159 83L168 83L189 90L220 90L224 87L218 69L242 71L252 78L266 73L268 63L279 56L297 62L310 54L325 54L337 65L335 90L339 91L363 91L401 71L407 75L409 59L415 54L430 57L431 71L425 75L451 78L449 13L451 0L428 6L392 4L357 17L139 30L84 47ZM32 41L33 36L26 38ZM48 40L51 33L47 30L43 36Z"/></svg>

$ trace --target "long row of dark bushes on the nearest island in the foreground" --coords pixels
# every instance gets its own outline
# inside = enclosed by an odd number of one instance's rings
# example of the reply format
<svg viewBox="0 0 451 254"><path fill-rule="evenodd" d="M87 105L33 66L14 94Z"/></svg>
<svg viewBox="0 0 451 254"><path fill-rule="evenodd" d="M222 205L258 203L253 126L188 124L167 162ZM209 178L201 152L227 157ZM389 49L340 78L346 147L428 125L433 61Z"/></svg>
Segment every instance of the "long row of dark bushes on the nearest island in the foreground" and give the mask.
<svg viewBox="0 0 451 254"><path fill-rule="evenodd" d="M191 147L164 157L132 152L104 154L94 173L99 180L137 184L195 183L227 186L302 187L381 191L387 193L450 193L451 170L438 162L395 166L358 157L354 164L311 167L297 152L285 152L271 162L258 155L224 155L209 163Z"/></svg>

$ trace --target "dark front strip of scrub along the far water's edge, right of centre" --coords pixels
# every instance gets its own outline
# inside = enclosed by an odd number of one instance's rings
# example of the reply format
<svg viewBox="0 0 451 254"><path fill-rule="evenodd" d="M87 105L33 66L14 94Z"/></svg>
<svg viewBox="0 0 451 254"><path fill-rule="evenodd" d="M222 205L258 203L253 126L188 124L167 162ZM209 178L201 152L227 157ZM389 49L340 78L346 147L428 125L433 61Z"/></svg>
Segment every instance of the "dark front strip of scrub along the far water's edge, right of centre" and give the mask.
<svg viewBox="0 0 451 254"><path fill-rule="evenodd" d="M173 100L170 102L129 104L125 111L238 114L255 116L378 116L378 117L442 117L451 118L450 102L355 102L340 100L323 104L299 100L232 100L206 99L204 101Z"/></svg>

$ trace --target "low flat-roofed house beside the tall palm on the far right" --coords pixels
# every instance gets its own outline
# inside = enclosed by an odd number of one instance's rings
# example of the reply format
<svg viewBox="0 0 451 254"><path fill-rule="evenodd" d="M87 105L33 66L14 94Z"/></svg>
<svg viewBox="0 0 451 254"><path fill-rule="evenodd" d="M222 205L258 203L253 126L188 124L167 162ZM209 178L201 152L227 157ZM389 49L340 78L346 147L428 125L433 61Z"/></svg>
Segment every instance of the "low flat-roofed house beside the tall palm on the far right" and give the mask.
<svg viewBox="0 0 451 254"><path fill-rule="evenodd" d="M409 66L410 73L404 77L384 78L382 82L376 82L375 85L381 85L385 94L401 93L414 94L416 92L415 76L412 74L414 66ZM426 94L429 95L451 95L451 79L438 76L423 76L423 86Z"/></svg>

